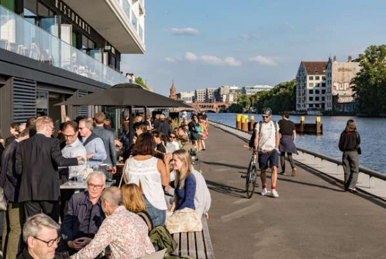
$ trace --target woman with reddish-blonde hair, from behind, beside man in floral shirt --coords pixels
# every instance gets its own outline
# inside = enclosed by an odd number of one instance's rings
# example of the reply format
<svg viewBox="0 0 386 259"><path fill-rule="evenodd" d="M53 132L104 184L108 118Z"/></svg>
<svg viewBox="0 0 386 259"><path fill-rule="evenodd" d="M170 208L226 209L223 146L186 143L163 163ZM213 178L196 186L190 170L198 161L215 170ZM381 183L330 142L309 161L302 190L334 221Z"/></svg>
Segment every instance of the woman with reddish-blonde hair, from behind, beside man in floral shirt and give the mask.
<svg viewBox="0 0 386 259"><path fill-rule="evenodd" d="M150 232L154 228L153 221L152 217L147 213L147 207L140 188L135 183L126 183L121 187L121 190L126 209L140 216L147 224Z"/></svg>

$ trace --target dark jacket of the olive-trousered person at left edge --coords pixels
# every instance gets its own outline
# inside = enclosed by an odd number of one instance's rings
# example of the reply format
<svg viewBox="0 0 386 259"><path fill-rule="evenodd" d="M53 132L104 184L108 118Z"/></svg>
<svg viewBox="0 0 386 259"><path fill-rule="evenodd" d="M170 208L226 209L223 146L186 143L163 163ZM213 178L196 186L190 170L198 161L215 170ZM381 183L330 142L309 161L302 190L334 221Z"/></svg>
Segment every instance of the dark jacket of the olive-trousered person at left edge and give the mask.
<svg viewBox="0 0 386 259"><path fill-rule="evenodd" d="M18 141L8 144L4 155L1 158L3 168L1 169L0 187L9 202L18 202L20 190L20 176L15 174L15 155L18 148Z"/></svg>

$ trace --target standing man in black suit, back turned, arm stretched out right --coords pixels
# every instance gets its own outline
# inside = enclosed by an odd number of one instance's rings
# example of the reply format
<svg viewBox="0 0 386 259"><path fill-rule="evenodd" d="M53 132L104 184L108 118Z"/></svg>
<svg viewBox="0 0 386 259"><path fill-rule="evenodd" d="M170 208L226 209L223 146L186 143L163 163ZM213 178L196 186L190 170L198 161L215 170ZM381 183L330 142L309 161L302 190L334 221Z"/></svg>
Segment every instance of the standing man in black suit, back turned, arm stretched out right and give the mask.
<svg viewBox="0 0 386 259"><path fill-rule="evenodd" d="M26 218L43 212L59 221L60 179L58 167L81 165L84 158L63 158L59 140L52 139L53 120L36 119L36 134L20 142L16 151L16 174L21 176L19 202Z"/></svg>

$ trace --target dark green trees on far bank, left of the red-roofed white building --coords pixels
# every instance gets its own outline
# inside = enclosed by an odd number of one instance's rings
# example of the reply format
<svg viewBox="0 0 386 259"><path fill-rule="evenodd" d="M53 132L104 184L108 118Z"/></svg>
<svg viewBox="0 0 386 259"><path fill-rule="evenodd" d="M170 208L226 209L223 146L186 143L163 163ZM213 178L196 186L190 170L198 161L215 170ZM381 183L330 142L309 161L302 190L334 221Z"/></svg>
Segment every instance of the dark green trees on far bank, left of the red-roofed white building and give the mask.
<svg viewBox="0 0 386 259"><path fill-rule="evenodd" d="M264 107L272 109L273 113L294 111L296 105L296 80L279 83L272 90L258 92L253 96L254 108L260 112Z"/></svg>

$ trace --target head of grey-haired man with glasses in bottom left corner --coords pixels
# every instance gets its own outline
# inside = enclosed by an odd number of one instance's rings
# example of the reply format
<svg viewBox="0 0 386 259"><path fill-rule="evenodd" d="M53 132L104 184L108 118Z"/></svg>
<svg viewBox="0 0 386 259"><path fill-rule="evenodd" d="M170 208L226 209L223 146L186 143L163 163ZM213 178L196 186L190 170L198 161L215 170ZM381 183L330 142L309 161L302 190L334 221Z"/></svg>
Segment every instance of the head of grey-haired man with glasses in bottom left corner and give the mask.
<svg viewBox="0 0 386 259"><path fill-rule="evenodd" d="M18 259L53 259L58 248L60 226L46 216L36 214L27 219L23 232L23 240L27 244Z"/></svg>

